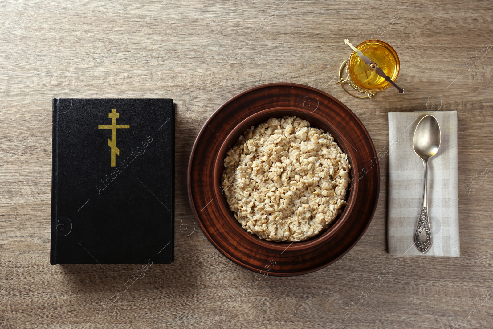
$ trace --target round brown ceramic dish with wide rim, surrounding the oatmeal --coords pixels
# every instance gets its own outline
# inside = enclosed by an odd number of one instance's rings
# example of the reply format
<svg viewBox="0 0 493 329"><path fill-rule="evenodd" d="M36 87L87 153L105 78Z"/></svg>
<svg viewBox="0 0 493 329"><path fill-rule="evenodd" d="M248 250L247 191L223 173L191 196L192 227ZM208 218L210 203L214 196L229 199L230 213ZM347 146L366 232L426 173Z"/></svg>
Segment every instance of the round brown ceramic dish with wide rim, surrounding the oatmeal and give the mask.
<svg viewBox="0 0 493 329"><path fill-rule="evenodd" d="M221 190L226 151L247 128L284 115L296 115L329 132L351 164L343 213L322 233L301 242L266 241L246 232ZM262 275L291 276L323 268L351 250L377 207L380 170L368 132L344 104L312 87L271 83L236 95L211 115L193 145L187 184L200 228L219 252Z"/></svg>

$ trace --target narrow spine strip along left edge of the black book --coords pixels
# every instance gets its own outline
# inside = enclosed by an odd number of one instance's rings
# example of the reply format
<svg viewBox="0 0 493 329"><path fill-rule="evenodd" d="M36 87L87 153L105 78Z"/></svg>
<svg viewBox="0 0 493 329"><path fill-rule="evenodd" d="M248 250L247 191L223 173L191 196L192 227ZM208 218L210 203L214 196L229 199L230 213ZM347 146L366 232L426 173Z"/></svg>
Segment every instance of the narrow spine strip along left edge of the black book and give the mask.
<svg viewBox="0 0 493 329"><path fill-rule="evenodd" d="M53 128L51 146L51 248L50 263L57 263L57 174L58 174L58 98L53 99Z"/></svg>

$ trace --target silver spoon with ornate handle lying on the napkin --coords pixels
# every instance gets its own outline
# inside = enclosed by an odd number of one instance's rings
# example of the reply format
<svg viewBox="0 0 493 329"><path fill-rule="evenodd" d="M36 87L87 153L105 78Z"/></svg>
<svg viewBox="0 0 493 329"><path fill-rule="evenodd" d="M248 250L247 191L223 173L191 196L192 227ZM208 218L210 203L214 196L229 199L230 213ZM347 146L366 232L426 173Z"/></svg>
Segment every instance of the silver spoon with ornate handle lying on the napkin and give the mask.
<svg viewBox="0 0 493 329"><path fill-rule="evenodd" d="M424 191L423 205L421 207L414 242L416 248L423 254L431 247L431 232L428 219L428 159L438 152L440 148L440 126L433 115L425 115L414 131L413 147L416 154L424 163ZM424 240L424 241L423 241Z"/></svg>

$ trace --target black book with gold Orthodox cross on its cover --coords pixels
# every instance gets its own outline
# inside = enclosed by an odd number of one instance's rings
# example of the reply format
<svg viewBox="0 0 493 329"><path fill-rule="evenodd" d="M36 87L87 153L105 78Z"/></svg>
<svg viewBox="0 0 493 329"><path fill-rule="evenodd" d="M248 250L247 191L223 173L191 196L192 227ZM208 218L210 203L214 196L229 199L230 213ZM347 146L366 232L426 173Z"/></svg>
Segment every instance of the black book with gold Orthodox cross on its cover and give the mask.
<svg viewBox="0 0 493 329"><path fill-rule="evenodd" d="M171 99L53 99L51 263L171 263Z"/></svg>

